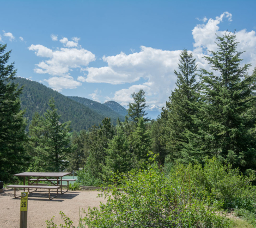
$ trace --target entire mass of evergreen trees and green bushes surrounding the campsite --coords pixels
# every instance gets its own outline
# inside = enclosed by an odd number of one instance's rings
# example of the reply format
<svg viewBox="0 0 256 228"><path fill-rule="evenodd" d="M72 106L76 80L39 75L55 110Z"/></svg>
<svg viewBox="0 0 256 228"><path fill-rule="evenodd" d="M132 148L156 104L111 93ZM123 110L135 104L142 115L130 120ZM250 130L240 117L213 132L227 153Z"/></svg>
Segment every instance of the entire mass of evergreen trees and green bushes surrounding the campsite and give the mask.
<svg viewBox="0 0 256 228"><path fill-rule="evenodd" d="M53 98L34 113L28 132L22 88L10 52L0 56L0 179L20 171L75 171L70 186L108 186L100 208L80 227L231 227L227 213L256 226L256 68L242 64L235 33L217 36L218 51L198 69L180 54L176 88L156 120L147 117L145 91L132 94L124 121L111 119L72 131ZM0 45L2 54L6 45ZM19 165L17 165L19 164ZM120 190L121 189L121 190ZM62 213L66 225L75 227ZM48 227L57 227L54 220Z"/></svg>

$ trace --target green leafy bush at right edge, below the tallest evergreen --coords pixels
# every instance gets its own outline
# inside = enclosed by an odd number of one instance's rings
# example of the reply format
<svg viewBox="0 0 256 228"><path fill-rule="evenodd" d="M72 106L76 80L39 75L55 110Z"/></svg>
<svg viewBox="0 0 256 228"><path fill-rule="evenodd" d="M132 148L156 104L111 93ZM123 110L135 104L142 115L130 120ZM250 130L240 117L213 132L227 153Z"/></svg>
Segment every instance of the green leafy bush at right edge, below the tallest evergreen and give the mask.
<svg viewBox="0 0 256 228"><path fill-rule="evenodd" d="M222 165L216 158L206 159L202 165L177 164L169 172L169 178L188 181L184 175L190 176L194 192L205 192L215 201L223 202L222 208L256 209L256 186L252 186L255 175L243 176L239 169L231 165Z"/></svg>

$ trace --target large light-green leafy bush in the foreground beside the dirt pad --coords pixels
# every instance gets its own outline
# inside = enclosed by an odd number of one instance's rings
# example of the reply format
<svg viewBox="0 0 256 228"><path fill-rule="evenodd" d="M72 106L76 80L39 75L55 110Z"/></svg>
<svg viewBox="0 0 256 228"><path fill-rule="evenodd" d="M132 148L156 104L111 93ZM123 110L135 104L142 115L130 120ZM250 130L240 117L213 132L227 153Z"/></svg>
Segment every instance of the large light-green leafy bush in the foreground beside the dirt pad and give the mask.
<svg viewBox="0 0 256 228"><path fill-rule="evenodd" d="M122 192L118 190L122 189ZM105 192L100 209L89 208L88 227L228 227L228 221L207 208L187 189L190 184L164 176L156 165L130 172L122 185Z"/></svg>

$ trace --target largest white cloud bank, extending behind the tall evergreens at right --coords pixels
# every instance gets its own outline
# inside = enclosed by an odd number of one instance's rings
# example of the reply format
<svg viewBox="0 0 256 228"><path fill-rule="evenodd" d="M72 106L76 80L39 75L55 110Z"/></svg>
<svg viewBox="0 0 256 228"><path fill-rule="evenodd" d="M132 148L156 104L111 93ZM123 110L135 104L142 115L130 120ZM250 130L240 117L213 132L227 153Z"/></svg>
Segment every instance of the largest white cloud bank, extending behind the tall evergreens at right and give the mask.
<svg viewBox="0 0 256 228"><path fill-rule="evenodd" d="M193 53L196 58L198 69L210 70L210 66L204 56L209 56L208 51L216 51L216 35L222 36L226 31L220 30L218 24L223 21L232 21L232 15L224 12L215 19L200 19L202 24L197 24L192 30L194 39ZM240 30L236 32L236 39L240 44L238 51L246 51L242 54L243 63L256 64L256 35L254 31ZM121 52L116 56L103 56L102 60L107 63L104 67L87 67L88 75L86 82L93 83L136 83L144 79L145 83L132 85L128 89L116 91L113 97L106 97L107 100L114 100L123 105L132 102L131 93L144 89L147 94L147 103L154 103L164 106L170 96L171 90L175 88L176 76L174 70L178 70L179 55L181 50L164 51L152 47L141 46L139 52L125 54Z"/></svg>

